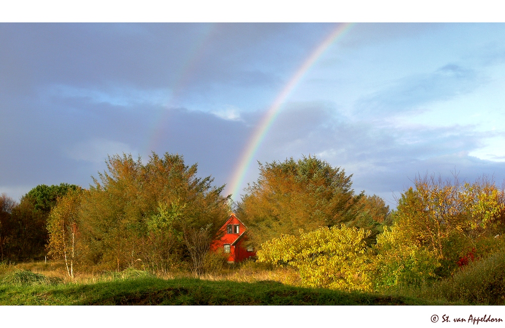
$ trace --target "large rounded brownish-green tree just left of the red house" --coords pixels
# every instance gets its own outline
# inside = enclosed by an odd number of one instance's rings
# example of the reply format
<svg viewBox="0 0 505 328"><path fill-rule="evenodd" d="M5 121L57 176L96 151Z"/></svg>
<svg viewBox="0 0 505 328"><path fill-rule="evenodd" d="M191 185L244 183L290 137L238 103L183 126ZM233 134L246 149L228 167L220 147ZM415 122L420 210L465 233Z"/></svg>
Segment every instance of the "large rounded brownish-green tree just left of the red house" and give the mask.
<svg viewBox="0 0 505 328"><path fill-rule="evenodd" d="M153 153L146 164L140 157L114 155L107 168L81 206L93 263L116 270L139 263L168 270L190 257L187 231L209 226L212 235L228 216L224 186L212 186L211 176L197 177L197 165L185 165L180 155Z"/></svg>

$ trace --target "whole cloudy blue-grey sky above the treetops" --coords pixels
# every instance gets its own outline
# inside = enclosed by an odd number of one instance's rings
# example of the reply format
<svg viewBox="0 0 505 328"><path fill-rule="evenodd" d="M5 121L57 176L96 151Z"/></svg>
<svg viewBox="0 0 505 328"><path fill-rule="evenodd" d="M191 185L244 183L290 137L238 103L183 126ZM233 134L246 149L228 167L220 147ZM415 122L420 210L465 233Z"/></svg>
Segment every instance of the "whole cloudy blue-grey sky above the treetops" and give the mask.
<svg viewBox="0 0 505 328"><path fill-rule="evenodd" d="M2 23L0 193L88 187L108 155L153 151L198 163L236 201L258 161L309 155L393 207L426 173L501 184L504 24L356 23L325 44L339 28Z"/></svg>

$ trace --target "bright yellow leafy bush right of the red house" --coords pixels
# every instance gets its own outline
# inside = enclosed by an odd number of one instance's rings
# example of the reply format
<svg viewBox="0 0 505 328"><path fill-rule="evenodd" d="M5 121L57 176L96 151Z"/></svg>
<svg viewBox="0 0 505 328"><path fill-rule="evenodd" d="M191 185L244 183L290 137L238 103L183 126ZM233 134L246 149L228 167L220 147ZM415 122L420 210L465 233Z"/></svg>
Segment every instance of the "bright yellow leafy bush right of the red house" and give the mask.
<svg viewBox="0 0 505 328"><path fill-rule="evenodd" d="M321 227L299 236L282 235L262 244L258 261L297 270L301 285L345 291L372 290L372 262L365 238L370 230Z"/></svg>

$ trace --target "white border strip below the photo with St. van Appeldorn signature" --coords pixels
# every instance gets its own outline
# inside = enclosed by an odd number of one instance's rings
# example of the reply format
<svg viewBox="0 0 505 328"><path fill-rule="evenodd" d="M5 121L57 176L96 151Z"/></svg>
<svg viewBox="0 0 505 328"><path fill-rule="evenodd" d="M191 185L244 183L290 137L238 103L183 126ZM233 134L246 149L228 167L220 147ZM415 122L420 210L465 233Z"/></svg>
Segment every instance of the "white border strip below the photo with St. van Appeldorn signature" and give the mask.
<svg viewBox="0 0 505 328"><path fill-rule="evenodd" d="M504 320L501 306L3 306L6 326L77 327L436 327L475 326L453 322L470 314ZM437 315L437 321L431 319ZM443 322L443 316L449 321ZM447 324L450 323L450 324ZM470 324L470 325L469 325Z"/></svg>

